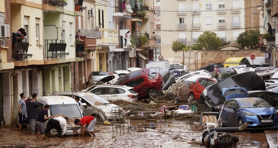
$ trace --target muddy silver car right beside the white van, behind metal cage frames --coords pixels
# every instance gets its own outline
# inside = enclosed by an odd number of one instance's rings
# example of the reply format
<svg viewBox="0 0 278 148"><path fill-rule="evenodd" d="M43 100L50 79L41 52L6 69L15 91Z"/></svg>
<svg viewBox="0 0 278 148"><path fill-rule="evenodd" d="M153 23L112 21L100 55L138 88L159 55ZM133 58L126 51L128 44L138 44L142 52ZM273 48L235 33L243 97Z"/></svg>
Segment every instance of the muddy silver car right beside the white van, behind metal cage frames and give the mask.
<svg viewBox="0 0 278 148"><path fill-rule="evenodd" d="M58 93L58 95L64 96L71 96L72 94L75 97L79 97L81 99L85 116L94 116L97 119L97 122L115 122L119 118L124 118L124 116L122 115L123 111L121 111L119 115L118 110L115 110L115 108L119 108L118 105L111 104L110 102L106 101L98 95L95 95L94 93L87 91L69 91Z"/></svg>

